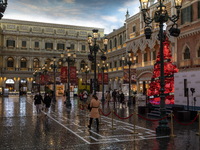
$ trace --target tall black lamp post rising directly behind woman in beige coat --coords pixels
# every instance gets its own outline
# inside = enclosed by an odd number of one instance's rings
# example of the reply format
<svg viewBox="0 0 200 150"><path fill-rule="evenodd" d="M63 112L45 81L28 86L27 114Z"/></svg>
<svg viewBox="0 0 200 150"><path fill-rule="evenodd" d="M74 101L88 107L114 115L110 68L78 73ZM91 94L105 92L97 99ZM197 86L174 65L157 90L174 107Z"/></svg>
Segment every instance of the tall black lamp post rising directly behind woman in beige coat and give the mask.
<svg viewBox="0 0 200 150"><path fill-rule="evenodd" d="M91 35L88 36L88 44L89 44L89 49L90 49L90 54L88 55L88 59L94 63L94 92L93 94L96 95L97 91L97 79L96 79L96 65L97 65L97 52L100 49L99 45L97 44L97 39L98 39L98 29L93 29L93 37ZM108 44L108 39L104 39L104 50L101 50L101 52L105 52L107 50L107 44Z"/></svg>

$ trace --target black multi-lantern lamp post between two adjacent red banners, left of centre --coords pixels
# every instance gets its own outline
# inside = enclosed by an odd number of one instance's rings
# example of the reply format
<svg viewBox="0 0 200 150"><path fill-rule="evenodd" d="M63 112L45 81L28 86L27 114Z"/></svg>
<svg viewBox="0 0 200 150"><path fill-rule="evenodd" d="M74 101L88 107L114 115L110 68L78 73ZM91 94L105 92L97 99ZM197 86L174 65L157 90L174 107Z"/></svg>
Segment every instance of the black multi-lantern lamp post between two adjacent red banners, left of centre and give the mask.
<svg viewBox="0 0 200 150"><path fill-rule="evenodd" d="M76 59L76 54L71 54L70 53L70 47L67 47L66 50L66 58L64 59L64 54L61 54L61 58L63 58L63 61L67 62L67 97L66 97L66 106L71 106L71 101L70 101L70 65L75 62Z"/></svg>

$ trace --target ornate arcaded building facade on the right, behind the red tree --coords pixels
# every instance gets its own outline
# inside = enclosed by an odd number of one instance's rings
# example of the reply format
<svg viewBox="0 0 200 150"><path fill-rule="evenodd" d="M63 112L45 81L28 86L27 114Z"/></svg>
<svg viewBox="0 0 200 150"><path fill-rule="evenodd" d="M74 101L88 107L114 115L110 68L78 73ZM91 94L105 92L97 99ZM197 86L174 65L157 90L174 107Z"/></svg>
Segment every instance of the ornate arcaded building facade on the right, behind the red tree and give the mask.
<svg viewBox="0 0 200 150"><path fill-rule="evenodd" d="M169 16L176 14L176 9L174 8L172 0L166 0L164 1L164 4ZM158 2L152 0L149 10L150 17L154 16L157 6ZM168 21L166 23L166 32L170 41L172 61L177 65L181 72L199 70L199 18L200 1L184 0L178 21L178 28L181 30L179 37L173 37L170 35L168 30L172 27L172 22ZM107 56L112 56L113 61L118 61L117 64L120 64L118 53L120 53L120 55L127 55L127 52L131 51L133 56L136 56L136 61L133 62L132 68L136 69L137 81L135 84L132 84L131 88L132 90L136 90L138 93L143 94L146 94L146 91L149 88L154 64L159 52L159 25L158 23L153 22L151 26L151 39L146 39L144 34L145 23L142 12L138 12L133 16L129 16L127 13L125 25L120 29L114 30L107 36L109 38L109 50ZM121 30L123 30L123 32ZM123 39L122 43L120 43L121 38ZM109 87L114 89L118 87L121 89L121 85L123 85L124 67L116 69L115 66L116 65L111 66L109 69L109 77L111 78ZM125 68L126 67L127 66L125 66Z"/></svg>

